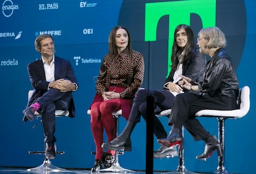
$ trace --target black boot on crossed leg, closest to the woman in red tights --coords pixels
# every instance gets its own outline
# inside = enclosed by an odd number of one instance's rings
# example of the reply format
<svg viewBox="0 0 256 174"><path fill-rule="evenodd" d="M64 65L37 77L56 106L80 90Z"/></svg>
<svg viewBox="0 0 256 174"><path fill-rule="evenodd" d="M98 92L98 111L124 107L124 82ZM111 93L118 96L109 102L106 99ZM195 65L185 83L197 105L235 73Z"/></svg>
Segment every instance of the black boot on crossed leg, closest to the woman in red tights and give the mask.
<svg viewBox="0 0 256 174"><path fill-rule="evenodd" d="M101 147L112 151L119 151L120 149L124 149L124 151L132 151L130 134L132 133L132 130L134 130L136 124L137 122L128 121L121 135L108 143L103 143Z"/></svg>

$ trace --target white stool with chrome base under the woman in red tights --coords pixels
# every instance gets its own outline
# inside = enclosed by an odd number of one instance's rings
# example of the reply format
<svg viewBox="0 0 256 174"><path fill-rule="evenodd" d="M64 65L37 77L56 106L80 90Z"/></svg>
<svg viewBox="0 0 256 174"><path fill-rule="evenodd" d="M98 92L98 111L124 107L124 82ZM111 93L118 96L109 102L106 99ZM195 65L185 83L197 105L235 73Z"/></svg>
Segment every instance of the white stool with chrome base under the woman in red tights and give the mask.
<svg viewBox="0 0 256 174"><path fill-rule="evenodd" d="M88 109L87 110L87 114L90 115L91 114L91 110ZM118 118L121 117L122 115L122 109L117 110L115 112L112 112L113 118L115 119L116 122L116 137L118 136ZM111 167L109 168L104 168L101 169L99 172L134 172L133 170L129 170L126 168L122 168L119 164L119 160L118 160L118 155L119 154L124 154L124 151L116 151L114 154L114 162L112 163Z"/></svg>

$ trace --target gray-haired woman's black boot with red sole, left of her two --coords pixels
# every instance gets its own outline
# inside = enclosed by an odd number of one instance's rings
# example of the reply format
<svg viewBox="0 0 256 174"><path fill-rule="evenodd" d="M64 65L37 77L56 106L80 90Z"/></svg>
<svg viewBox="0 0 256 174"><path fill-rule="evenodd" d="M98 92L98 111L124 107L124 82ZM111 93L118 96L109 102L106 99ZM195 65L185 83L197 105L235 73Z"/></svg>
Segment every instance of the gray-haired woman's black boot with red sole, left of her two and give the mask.
<svg viewBox="0 0 256 174"><path fill-rule="evenodd" d="M158 139L157 142L166 147L171 147L177 144L181 144L181 141L183 140L181 129L182 128L176 128L175 126L173 126L168 137Z"/></svg>

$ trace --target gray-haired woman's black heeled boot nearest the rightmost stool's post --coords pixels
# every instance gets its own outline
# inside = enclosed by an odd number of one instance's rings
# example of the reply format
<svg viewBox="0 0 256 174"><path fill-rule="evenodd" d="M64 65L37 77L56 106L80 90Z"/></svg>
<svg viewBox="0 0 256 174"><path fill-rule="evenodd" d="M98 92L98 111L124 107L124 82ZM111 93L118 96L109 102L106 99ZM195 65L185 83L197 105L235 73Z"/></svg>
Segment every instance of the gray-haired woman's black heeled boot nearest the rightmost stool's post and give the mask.
<svg viewBox="0 0 256 174"><path fill-rule="evenodd" d="M197 155L197 159L207 159L210 158L211 155L213 154L213 152L217 150L218 152L218 156L221 156L221 147L220 147L220 143L218 142L218 140L216 139L216 136L210 136L209 138L207 138L207 140L205 141L205 151L203 152L203 154L201 155Z"/></svg>

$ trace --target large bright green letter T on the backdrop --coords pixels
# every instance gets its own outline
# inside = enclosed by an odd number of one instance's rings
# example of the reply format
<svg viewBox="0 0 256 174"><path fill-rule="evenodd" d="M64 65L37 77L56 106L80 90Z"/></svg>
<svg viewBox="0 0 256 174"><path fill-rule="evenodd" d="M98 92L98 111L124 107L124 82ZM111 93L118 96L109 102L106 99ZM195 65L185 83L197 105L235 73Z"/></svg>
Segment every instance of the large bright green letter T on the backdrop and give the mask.
<svg viewBox="0 0 256 174"><path fill-rule="evenodd" d="M171 70L169 67L174 39L173 32L179 24L190 25L190 14L197 14L201 18L203 28L214 27L216 0L184 0L145 4L145 41L156 41L158 21L164 15L169 15L168 74Z"/></svg>

